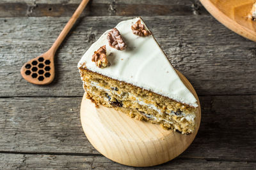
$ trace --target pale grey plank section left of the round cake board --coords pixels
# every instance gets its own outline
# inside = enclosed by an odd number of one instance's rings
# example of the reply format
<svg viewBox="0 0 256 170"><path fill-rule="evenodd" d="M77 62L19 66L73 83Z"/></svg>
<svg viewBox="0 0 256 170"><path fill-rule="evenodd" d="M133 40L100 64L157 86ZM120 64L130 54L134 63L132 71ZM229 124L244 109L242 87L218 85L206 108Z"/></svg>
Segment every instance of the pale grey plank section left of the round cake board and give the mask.
<svg viewBox="0 0 256 170"><path fill-rule="evenodd" d="M80 102L80 97L1 99L0 150L98 153L84 135Z"/></svg>

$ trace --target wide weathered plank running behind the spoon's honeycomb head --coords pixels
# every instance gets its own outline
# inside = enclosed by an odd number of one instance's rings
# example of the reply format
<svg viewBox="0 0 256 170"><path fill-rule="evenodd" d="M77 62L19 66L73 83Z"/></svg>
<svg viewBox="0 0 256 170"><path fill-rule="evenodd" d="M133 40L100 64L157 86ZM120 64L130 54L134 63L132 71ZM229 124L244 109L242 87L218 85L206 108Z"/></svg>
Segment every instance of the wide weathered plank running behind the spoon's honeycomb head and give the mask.
<svg viewBox="0 0 256 170"><path fill-rule="evenodd" d="M104 31L128 18L82 18L56 53L56 78L48 86L31 85L19 69L49 49L69 18L1 18L0 96L82 96L77 62ZM143 18L198 94L256 94L255 43L210 16Z"/></svg>

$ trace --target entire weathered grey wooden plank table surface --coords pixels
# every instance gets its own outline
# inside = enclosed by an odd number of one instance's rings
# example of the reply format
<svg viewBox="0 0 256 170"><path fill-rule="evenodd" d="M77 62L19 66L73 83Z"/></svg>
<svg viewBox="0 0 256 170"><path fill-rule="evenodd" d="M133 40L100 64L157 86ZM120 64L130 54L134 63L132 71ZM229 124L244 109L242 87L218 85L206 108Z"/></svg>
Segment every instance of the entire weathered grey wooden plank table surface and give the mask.
<svg viewBox="0 0 256 170"><path fill-rule="evenodd" d="M22 64L47 51L79 2L0 2L0 169L137 169L106 159L84 136L77 62L104 31L138 15L202 104L188 150L147 169L256 169L256 44L197 0L93 0L56 53L53 83L22 79Z"/></svg>

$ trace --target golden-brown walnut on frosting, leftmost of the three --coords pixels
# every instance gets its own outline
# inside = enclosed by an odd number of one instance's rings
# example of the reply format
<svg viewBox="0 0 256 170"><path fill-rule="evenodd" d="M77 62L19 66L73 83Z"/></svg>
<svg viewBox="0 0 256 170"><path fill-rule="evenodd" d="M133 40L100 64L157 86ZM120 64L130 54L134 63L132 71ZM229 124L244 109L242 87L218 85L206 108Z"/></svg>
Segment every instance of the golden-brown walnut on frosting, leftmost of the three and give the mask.
<svg viewBox="0 0 256 170"><path fill-rule="evenodd" d="M106 55L106 45L101 46L97 52L92 55L92 62L95 62L97 67L106 67L108 65L108 59Z"/></svg>

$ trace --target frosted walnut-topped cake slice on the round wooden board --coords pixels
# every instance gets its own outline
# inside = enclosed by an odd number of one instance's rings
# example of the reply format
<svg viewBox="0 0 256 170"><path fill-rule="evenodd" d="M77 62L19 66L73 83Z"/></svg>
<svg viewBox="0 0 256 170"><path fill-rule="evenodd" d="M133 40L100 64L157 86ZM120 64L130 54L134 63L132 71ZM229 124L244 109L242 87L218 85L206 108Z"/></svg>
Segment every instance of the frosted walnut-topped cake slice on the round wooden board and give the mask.
<svg viewBox="0 0 256 170"><path fill-rule="evenodd" d="M182 134L198 107L141 18L106 31L78 64L87 98Z"/></svg>

